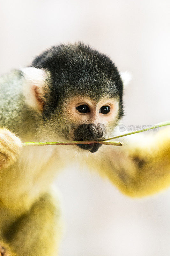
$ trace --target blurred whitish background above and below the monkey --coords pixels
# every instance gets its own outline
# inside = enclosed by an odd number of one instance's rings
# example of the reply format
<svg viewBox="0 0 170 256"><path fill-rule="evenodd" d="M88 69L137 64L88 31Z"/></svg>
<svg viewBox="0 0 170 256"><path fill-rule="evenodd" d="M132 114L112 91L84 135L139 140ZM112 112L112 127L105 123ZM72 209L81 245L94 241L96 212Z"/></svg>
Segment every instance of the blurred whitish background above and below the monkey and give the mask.
<svg viewBox="0 0 170 256"><path fill-rule="evenodd" d="M133 76L122 124L156 124L170 119L169 28L169 0L0 0L0 74L51 45L83 41ZM170 189L131 199L76 164L56 185L66 222L60 256L170 255Z"/></svg>

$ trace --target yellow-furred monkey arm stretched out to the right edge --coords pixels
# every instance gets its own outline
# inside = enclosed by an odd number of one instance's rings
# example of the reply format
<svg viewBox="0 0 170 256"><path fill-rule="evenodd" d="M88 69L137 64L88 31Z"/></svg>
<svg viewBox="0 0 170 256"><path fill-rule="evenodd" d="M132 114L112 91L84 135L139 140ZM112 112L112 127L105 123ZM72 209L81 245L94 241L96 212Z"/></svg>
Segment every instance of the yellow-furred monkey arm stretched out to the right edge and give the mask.
<svg viewBox="0 0 170 256"><path fill-rule="evenodd" d="M107 176L122 193L147 196L170 185L169 127L159 131L152 140L146 137L144 142L128 142L120 148L108 146L103 151L101 158L89 160L89 165Z"/></svg>

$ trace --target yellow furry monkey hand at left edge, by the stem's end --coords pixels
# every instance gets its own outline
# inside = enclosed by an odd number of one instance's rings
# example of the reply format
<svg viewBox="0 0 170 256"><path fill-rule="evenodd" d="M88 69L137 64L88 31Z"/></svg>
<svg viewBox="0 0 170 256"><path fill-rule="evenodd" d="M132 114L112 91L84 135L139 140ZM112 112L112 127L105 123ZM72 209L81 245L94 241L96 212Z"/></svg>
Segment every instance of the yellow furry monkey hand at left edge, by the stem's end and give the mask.
<svg viewBox="0 0 170 256"><path fill-rule="evenodd" d="M0 169L13 164L22 147L21 140L7 129L0 128Z"/></svg>

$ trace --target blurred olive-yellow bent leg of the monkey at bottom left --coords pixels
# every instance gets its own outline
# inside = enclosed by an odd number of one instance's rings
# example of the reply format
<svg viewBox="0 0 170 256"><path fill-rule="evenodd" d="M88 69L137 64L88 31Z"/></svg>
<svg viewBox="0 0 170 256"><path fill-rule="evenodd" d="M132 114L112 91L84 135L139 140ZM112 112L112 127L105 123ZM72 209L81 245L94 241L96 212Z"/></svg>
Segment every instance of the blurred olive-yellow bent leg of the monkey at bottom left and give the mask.
<svg viewBox="0 0 170 256"><path fill-rule="evenodd" d="M56 191L50 191L41 195L3 236L17 256L56 256L63 230L61 213Z"/></svg>

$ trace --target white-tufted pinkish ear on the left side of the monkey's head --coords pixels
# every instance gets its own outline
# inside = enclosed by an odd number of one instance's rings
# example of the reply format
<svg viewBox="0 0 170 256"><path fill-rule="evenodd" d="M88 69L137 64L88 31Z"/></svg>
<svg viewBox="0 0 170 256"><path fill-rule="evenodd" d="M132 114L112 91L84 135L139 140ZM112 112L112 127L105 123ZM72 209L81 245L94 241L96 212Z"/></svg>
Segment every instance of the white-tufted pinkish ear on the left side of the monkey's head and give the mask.
<svg viewBox="0 0 170 256"><path fill-rule="evenodd" d="M43 69L27 67L21 71L25 77L23 94L29 107L42 112L45 105L44 87L46 72Z"/></svg>

